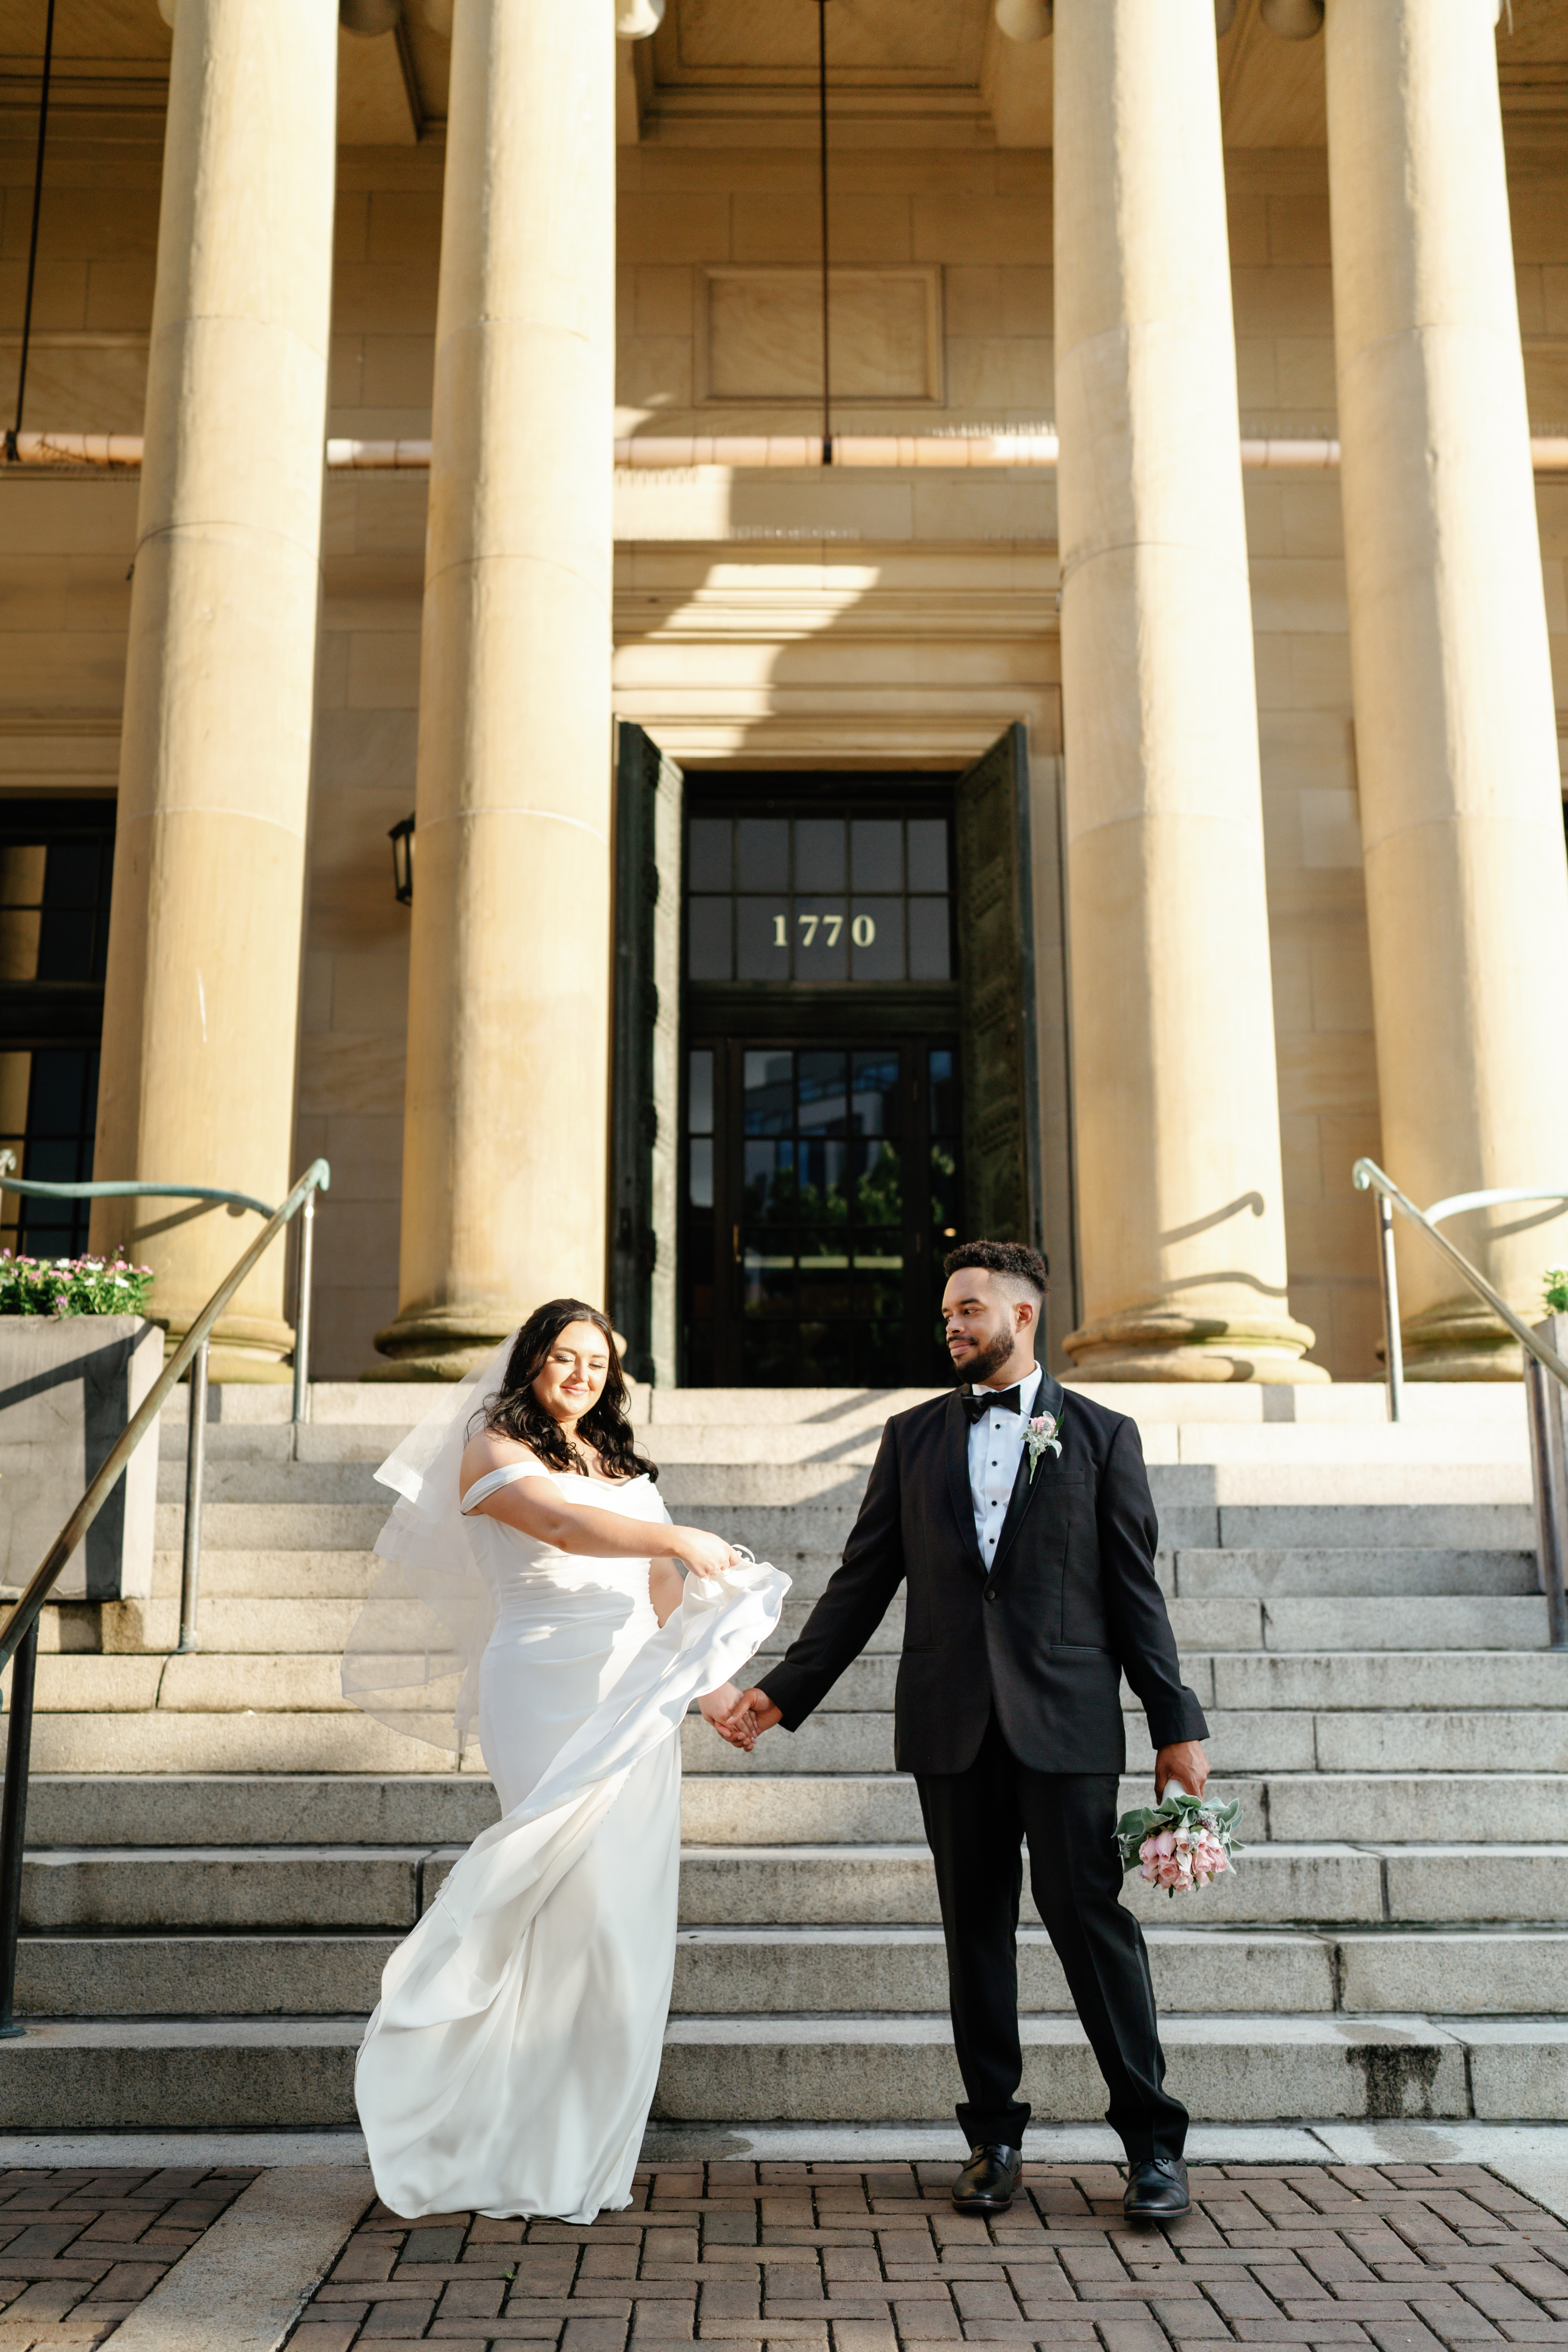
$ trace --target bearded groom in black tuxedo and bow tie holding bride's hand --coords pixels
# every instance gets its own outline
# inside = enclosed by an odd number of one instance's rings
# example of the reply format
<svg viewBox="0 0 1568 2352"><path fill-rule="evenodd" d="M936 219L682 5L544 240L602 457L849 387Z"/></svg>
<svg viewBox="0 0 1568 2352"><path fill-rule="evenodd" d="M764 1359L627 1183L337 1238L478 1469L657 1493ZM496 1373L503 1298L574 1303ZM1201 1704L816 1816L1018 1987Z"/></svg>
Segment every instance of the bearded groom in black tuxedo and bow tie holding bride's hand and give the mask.
<svg viewBox="0 0 1568 2352"><path fill-rule="evenodd" d="M1157 1795L1171 1780L1204 1792L1208 1726L1154 1581L1138 1425L1067 1397L1034 1359L1046 1261L969 1242L945 1272L947 1352L969 1385L886 1423L844 1564L729 1722L750 1708L757 1731L795 1731L907 1588L893 1759L914 1773L947 1940L971 2143L952 2201L999 2213L1023 2166L1013 1938L1027 1839L1034 1903L1126 2147L1126 2213L1164 2220L1187 2211L1187 2110L1164 2089L1143 1931L1119 1903L1121 1675L1159 1750ZM1060 1454L1041 1444L1053 1432Z"/></svg>

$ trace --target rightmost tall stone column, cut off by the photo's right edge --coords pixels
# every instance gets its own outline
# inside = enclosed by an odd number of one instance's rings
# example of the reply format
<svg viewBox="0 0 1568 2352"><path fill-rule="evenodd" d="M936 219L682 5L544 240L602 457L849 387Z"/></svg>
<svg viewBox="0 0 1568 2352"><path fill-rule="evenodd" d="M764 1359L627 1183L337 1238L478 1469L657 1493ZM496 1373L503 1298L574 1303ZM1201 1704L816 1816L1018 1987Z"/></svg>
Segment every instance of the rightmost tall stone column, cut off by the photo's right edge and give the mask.
<svg viewBox="0 0 1568 2352"><path fill-rule="evenodd" d="M1328 0L1328 188L1382 1164L1568 1183L1568 875L1493 0ZM1371 1214L1371 1211L1368 1211ZM1568 1221L1453 1240L1533 1322ZM1512 1232L1509 1232L1512 1228ZM1399 1232L1410 1378L1519 1348Z"/></svg>

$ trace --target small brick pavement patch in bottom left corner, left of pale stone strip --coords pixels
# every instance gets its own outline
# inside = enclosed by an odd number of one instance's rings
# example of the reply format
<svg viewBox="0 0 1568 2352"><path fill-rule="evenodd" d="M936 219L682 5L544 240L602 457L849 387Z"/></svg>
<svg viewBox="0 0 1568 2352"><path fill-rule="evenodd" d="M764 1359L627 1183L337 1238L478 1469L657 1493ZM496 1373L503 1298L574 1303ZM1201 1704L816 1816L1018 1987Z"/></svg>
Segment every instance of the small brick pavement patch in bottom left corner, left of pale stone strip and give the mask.
<svg viewBox="0 0 1568 2352"><path fill-rule="evenodd" d="M99 2345L256 2166L0 2171L0 2347Z"/></svg>

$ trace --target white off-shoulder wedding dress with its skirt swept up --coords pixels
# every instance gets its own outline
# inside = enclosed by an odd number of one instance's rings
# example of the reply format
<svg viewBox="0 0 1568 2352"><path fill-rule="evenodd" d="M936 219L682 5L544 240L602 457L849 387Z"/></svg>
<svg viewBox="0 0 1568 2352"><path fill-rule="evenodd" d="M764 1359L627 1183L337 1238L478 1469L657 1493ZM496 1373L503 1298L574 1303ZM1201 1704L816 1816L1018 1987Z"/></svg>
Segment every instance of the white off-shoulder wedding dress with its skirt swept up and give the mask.
<svg viewBox="0 0 1568 2352"><path fill-rule="evenodd" d="M538 1463L491 1470L473 1512ZM668 1524L649 1477L562 1477ZM646 1559L583 1559L470 1517L494 1630L477 1719L503 1818L397 1947L355 2098L376 2192L407 2216L628 2206L675 1971L679 1722L778 1623L788 1578L686 1576L658 1625Z"/></svg>

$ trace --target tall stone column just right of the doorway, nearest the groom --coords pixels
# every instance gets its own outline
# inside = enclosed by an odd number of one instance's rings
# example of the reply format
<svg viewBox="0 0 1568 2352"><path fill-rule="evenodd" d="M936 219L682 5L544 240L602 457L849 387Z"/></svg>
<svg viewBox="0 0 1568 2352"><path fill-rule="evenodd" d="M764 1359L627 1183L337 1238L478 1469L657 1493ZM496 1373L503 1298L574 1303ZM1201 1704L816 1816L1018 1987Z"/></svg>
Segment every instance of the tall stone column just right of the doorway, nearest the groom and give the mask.
<svg viewBox="0 0 1568 2352"><path fill-rule="evenodd" d="M1056 0L1072 1075L1091 1381L1321 1381L1286 1303L1213 0Z"/></svg>

